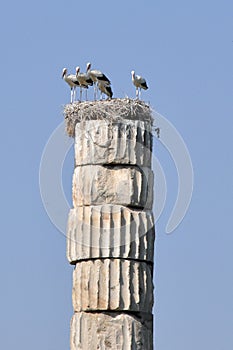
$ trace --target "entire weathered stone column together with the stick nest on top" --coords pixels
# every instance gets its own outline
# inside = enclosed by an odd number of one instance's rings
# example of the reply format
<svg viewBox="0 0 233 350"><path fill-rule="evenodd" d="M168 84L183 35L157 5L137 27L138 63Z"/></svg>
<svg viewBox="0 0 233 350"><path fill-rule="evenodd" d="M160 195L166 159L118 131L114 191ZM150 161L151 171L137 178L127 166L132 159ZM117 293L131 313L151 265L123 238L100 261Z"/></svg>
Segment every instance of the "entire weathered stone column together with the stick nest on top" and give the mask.
<svg viewBox="0 0 233 350"><path fill-rule="evenodd" d="M152 115L141 101L65 107L74 137L71 350L153 349Z"/></svg>

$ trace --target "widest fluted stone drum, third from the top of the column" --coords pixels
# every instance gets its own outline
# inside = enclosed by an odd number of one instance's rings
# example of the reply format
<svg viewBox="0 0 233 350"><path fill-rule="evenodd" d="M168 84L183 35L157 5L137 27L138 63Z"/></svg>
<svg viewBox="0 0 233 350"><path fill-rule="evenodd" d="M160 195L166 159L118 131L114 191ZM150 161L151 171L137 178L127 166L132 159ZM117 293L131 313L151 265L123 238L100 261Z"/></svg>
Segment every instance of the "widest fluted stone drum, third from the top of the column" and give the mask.
<svg viewBox="0 0 233 350"><path fill-rule="evenodd" d="M153 261L154 220L149 210L120 205L84 206L70 210L67 259L128 258Z"/></svg>

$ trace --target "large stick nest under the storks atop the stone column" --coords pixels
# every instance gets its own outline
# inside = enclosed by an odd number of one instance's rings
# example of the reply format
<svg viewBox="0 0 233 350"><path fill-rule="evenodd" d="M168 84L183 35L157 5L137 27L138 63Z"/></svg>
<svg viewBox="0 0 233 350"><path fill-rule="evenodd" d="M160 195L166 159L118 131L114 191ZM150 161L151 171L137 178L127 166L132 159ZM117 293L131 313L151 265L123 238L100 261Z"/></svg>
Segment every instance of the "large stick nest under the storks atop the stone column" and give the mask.
<svg viewBox="0 0 233 350"><path fill-rule="evenodd" d="M76 123L86 120L106 120L110 122L130 120L149 121L153 124L152 109L140 100L115 98L102 101L84 101L67 104L64 107L66 132L74 137Z"/></svg>

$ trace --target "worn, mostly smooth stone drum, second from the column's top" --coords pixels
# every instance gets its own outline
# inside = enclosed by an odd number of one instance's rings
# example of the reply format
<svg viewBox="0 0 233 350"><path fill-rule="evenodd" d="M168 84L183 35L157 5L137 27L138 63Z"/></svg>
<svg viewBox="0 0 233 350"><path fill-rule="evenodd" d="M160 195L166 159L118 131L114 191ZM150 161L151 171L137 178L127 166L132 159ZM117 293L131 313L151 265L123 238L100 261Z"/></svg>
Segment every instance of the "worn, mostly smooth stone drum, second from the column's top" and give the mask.
<svg viewBox="0 0 233 350"><path fill-rule="evenodd" d="M153 172L137 166L78 166L73 176L73 204L120 204L152 208Z"/></svg>

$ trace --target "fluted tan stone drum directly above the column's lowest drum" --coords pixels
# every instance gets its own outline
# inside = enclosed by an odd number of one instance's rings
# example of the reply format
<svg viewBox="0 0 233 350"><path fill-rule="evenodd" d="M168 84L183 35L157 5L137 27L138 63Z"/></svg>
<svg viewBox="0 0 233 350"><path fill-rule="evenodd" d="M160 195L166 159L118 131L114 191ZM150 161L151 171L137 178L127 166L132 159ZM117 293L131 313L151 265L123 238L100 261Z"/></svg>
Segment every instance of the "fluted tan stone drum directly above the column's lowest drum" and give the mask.
<svg viewBox="0 0 233 350"><path fill-rule="evenodd" d="M87 260L73 272L73 307L79 311L151 312L152 266L123 259Z"/></svg>

